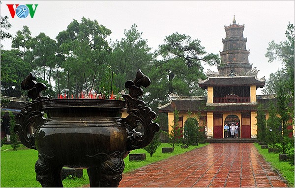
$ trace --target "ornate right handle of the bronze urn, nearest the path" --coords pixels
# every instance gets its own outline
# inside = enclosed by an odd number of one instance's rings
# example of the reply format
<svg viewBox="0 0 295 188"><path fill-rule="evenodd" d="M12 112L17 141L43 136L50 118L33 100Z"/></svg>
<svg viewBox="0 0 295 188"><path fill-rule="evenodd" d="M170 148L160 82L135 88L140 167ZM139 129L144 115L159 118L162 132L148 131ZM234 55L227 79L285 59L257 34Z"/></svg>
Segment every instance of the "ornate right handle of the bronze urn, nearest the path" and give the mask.
<svg viewBox="0 0 295 188"><path fill-rule="evenodd" d="M147 146L156 132L159 132L160 126L152 122L156 118L156 113L150 107L146 107L144 101L138 98L144 94L141 86L148 87L150 80L139 69L134 81L126 81L125 87L129 89L129 95L122 95L126 102L127 113L129 114L122 120L127 124L128 149L134 150ZM138 126L144 128L144 133L137 132Z"/></svg>

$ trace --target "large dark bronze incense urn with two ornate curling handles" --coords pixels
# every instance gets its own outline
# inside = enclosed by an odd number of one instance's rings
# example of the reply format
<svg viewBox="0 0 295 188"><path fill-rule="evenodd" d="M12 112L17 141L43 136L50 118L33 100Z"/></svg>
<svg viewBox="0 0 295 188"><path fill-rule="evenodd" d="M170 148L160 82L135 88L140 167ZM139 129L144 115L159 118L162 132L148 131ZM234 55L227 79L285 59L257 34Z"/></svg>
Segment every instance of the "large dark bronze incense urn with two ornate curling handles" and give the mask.
<svg viewBox="0 0 295 188"><path fill-rule="evenodd" d="M86 168L90 187L118 187L123 159L147 146L159 131L152 122L156 113L139 100L149 78L139 70L134 81L126 81L124 100L49 99L41 93L46 85L35 80L30 73L21 83L32 101L17 114L14 132L38 151L36 180L42 187L63 187L60 171L66 166ZM126 118L121 117L124 110ZM144 132L137 132L138 126Z"/></svg>

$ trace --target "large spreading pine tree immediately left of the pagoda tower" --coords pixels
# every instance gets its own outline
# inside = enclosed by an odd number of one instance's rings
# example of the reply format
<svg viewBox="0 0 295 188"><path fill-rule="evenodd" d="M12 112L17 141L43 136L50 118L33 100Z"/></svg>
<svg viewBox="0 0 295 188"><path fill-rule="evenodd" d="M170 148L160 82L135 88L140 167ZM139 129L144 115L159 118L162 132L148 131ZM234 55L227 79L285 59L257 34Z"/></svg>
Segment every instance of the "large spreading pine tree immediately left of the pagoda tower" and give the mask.
<svg viewBox="0 0 295 188"><path fill-rule="evenodd" d="M154 103L167 101L167 94L179 96L202 96L205 91L198 85L205 80L201 62L219 64L216 54L207 54L198 39L185 34L173 33L166 36L164 44L156 51L157 60L152 62L148 77L155 81L148 88L149 98Z"/></svg>

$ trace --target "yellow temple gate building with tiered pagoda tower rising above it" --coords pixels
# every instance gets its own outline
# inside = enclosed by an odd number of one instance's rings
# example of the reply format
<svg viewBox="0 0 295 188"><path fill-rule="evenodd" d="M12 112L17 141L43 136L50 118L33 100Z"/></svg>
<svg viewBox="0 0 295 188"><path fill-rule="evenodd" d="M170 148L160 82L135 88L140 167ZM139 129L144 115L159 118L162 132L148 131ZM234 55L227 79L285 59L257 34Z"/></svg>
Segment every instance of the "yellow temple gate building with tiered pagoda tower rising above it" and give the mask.
<svg viewBox="0 0 295 188"><path fill-rule="evenodd" d="M257 88L263 88L265 78L257 78L258 70L249 63L247 38L243 37L244 25L225 26L226 37L222 39L223 51L218 73L208 71L207 79L199 81L199 86L207 90L207 97L179 97L169 95L168 104L158 107L168 114L171 131L174 110L179 111L179 127L183 127L190 110L197 118L200 128L204 128L208 138L223 138L224 124L238 123L241 138L257 137L257 107L268 101L275 101L273 95L256 95ZM266 119L268 113L266 112Z"/></svg>

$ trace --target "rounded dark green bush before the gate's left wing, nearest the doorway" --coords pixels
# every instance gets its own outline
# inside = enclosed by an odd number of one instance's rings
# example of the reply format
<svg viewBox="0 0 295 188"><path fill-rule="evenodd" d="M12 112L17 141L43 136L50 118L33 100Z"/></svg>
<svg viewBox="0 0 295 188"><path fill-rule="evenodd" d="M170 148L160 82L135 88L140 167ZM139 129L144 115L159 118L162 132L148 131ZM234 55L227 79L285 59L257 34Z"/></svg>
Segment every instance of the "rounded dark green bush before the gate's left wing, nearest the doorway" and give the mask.
<svg viewBox="0 0 295 188"><path fill-rule="evenodd" d="M191 117L191 111L188 111L188 118L184 123L183 136L183 144L187 146L199 142L199 123L196 118Z"/></svg>

